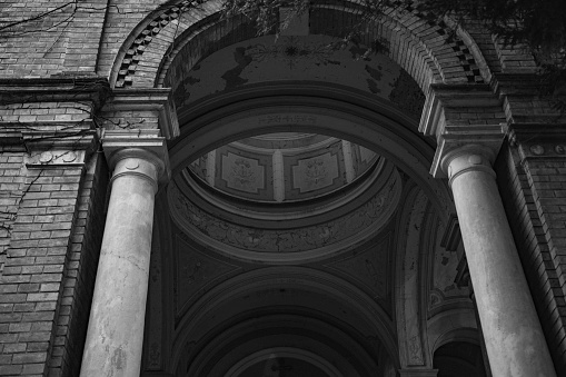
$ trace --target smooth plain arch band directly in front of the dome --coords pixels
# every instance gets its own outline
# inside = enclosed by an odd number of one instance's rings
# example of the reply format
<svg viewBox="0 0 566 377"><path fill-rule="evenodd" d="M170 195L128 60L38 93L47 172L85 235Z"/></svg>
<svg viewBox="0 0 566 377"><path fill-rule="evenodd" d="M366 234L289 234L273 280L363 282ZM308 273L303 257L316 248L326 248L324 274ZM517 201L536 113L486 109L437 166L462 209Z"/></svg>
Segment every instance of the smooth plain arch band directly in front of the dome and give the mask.
<svg viewBox="0 0 566 377"><path fill-rule="evenodd" d="M259 119L262 115L281 111L319 118L318 125L299 118L292 127L286 126L287 130L341 137L376 150L410 173L440 214L445 217L454 214L445 182L429 175L435 150L430 141L416 132L415 120L384 100L348 88L318 85L301 85L298 88L292 83L277 83L271 88L261 86L217 96L199 108L181 112L179 121L186 127L181 128L177 142L173 140L170 145L173 175L182 166L222 143L250 135L280 131L277 125L266 125Z"/></svg>

